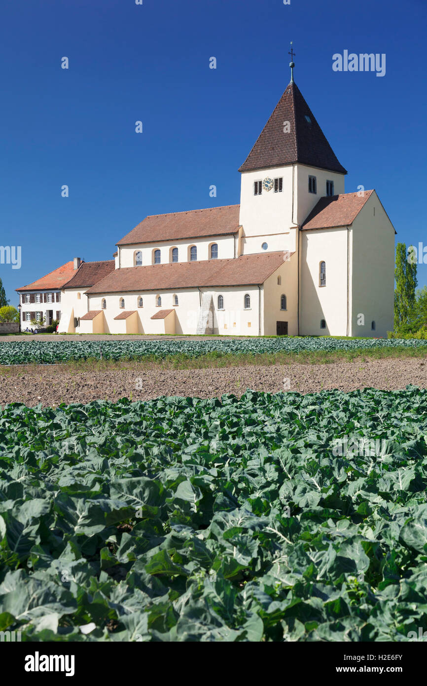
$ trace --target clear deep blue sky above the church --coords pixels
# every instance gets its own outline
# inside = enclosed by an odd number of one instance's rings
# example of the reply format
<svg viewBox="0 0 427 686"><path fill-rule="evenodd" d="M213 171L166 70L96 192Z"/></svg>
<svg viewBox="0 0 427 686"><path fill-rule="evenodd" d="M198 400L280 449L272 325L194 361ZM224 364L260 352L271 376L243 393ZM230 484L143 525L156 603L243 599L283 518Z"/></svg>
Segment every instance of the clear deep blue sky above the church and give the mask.
<svg viewBox="0 0 427 686"><path fill-rule="evenodd" d="M11 304L73 257L111 259L146 215L238 203L290 40L346 191L375 188L397 239L427 246L426 18L425 0L3 3L0 244L22 249L20 270L0 264ZM332 71L345 49L385 53L385 76Z"/></svg>

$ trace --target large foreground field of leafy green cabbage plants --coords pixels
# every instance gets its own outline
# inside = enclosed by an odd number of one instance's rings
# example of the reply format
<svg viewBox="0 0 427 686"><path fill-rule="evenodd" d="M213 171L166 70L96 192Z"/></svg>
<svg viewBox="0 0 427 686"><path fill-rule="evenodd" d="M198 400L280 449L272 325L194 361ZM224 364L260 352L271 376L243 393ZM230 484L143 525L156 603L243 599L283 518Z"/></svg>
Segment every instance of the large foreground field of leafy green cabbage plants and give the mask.
<svg viewBox="0 0 427 686"><path fill-rule="evenodd" d="M6 405L0 630L413 640L426 486L427 391L413 386Z"/></svg>

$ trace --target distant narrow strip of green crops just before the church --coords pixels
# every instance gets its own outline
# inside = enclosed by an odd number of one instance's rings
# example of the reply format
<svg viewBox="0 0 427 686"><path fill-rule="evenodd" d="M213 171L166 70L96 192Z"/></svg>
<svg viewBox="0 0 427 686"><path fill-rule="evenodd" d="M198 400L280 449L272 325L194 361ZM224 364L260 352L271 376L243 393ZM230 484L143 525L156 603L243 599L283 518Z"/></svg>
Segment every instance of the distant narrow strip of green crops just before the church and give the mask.
<svg viewBox="0 0 427 686"><path fill-rule="evenodd" d="M54 364L80 359L143 359L169 355L201 357L207 353L239 355L242 353L301 353L304 351L352 351L369 348L426 347L426 341L384 338L280 337L210 340L106 340L106 341L11 341L0 344L0 364Z"/></svg>

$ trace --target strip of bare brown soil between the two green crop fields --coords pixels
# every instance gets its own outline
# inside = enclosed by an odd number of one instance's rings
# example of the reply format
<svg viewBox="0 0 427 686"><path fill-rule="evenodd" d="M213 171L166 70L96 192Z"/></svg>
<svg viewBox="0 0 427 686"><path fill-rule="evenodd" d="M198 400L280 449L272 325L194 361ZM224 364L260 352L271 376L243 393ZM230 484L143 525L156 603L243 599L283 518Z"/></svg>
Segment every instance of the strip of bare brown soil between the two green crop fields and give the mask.
<svg viewBox="0 0 427 686"><path fill-rule="evenodd" d="M135 363L127 368L101 372L38 366L28 370L3 368L0 405L21 402L55 406L97 399L117 401L121 397L148 400L161 395L208 398L234 393L240 396L247 388L273 393L281 390L309 393L333 388L349 391L367 387L395 390L405 388L409 383L427 388L424 359L148 371L138 369Z"/></svg>

